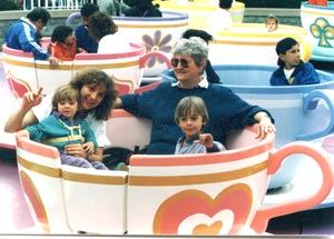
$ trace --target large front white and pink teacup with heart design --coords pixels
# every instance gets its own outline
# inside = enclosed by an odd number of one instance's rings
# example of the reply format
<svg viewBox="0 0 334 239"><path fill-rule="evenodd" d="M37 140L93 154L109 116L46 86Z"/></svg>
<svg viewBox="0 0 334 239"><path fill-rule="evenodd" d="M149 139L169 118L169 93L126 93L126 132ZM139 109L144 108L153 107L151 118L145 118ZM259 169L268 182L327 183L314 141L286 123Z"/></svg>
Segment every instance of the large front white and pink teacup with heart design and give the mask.
<svg viewBox="0 0 334 239"><path fill-rule="evenodd" d="M111 145L129 149L149 142L150 127L120 109L107 122ZM275 149L275 135L256 139L256 127L230 132L227 151L134 155L128 172L61 166L56 148L18 138L24 198L47 233L262 233L271 218L320 205L333 187L333 171L326 152L312 142ZM264 206L271 175L293 153L311 157L322 182L307 197Z"/></svg>

